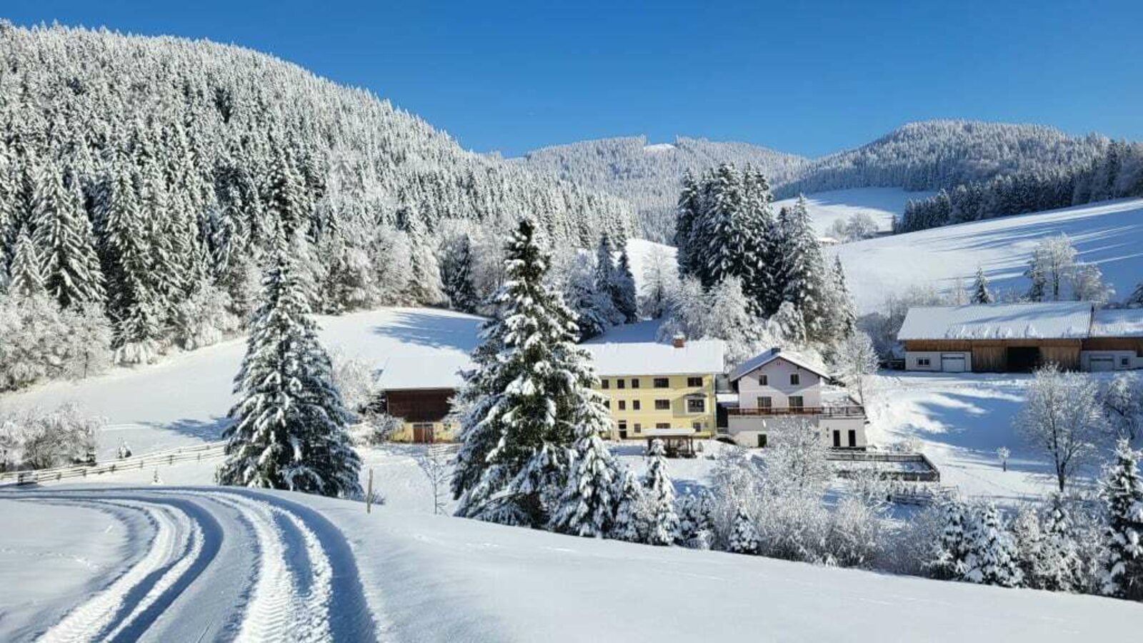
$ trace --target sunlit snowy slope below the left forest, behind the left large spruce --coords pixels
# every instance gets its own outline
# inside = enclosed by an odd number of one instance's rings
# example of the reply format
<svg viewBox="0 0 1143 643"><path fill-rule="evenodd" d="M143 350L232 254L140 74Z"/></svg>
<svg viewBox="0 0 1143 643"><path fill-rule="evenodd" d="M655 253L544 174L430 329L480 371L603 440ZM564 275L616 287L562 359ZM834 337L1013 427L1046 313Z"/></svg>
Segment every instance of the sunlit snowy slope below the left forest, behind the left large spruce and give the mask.
<svg viewBox="0 0 1143 643"><path fill-rule="evenodd" d="M365 360L378 376L416 386L469 364L481 318L435 309L390 308L317 317L330 352ZM165 356L158 364L114 368L78 382L50 382L0 395L0 410L54 407L75 402L105 418L99 458L120 440L136 454L218 439L233 404L233 379L246 352L235 339Z"/></svg>

